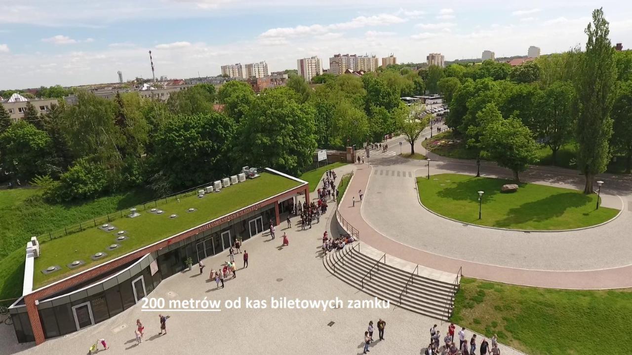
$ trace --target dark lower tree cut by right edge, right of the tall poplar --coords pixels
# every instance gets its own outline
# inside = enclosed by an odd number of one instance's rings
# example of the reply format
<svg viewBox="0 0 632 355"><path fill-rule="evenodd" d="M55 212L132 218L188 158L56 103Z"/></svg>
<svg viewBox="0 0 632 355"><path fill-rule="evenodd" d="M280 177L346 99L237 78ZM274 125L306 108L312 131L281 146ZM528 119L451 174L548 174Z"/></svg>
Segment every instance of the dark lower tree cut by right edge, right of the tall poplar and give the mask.
<svg viewBox="0 0 632 355"><path fill-rule="evenodd" d="M626 172L632 170L632 81L626 81L617 91L612 105L612 148L626 158Z"/></svg>

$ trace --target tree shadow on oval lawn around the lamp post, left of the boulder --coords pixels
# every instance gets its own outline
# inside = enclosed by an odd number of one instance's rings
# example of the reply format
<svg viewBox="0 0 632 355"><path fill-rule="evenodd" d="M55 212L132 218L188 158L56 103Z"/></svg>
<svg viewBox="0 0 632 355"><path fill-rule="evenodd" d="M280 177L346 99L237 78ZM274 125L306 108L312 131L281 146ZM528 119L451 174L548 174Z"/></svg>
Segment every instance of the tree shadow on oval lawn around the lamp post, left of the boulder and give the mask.
<svg viewBox="0 0 632 355"><path fill-rule="evenodd" d="M472 201L478 202L478 191L485 191L483 195L483 205L494 200L494 196L501 193L501 187L504 184L514 184L511 180L493 179L493 178L471 178L459 181L456 186L444 188L437 192L441 198L449 198L450 200ZM518 187L525 184L518 183Z"/></svg>

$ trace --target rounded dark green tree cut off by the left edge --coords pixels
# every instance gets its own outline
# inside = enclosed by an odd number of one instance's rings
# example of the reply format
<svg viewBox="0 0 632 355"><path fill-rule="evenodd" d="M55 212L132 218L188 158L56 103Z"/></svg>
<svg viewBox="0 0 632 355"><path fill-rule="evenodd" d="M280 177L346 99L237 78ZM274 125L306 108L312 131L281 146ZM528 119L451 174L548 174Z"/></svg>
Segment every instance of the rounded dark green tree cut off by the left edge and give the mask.
<svg viewBox="0 0 632 355"><path fill-rule="evenodd" d="M51 156L51 138L27 121L11 124L0 135L1 170L28 181L46 175Z"/></svg>

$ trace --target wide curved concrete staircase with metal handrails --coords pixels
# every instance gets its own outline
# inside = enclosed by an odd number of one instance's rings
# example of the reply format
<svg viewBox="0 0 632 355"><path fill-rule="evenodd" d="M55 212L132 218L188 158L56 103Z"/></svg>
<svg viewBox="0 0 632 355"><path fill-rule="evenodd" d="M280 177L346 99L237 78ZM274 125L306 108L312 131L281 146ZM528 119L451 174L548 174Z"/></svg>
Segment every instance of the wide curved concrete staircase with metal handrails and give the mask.
<svg viewBox="0 0 632 355"><path fill-rule="evenodd" d="M338 279L371 296L389 300L421 315L449 320L458 283L417 275L423 267L416 268L411 274L385 263L386 255L376 260L359 250L358 243L354 243L344 250L327 253L323 258L325 268Z"/></svg>

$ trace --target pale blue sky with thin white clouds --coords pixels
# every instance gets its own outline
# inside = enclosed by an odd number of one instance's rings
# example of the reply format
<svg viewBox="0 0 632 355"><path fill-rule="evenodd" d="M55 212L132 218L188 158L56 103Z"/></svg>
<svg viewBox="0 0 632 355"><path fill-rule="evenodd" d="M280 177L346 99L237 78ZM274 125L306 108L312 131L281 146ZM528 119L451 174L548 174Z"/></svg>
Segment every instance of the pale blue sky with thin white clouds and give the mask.
<svg viewBox="0 0 632 355"><path fill-rule="evenodd" d="M358 5L361 6L358 6ZM214 76L220 66L394 54L398 63L542 54L585 44L602 6L612 43L632 45L632 2L389 0L0 0L0 90ZM626 40L630 42L626 44Z"/></svg>

